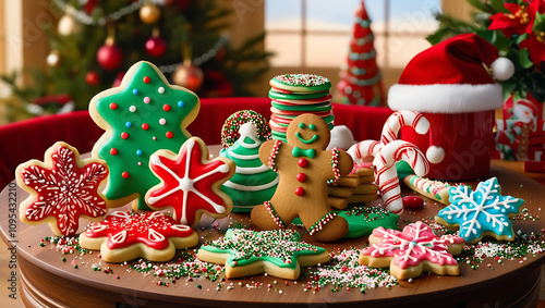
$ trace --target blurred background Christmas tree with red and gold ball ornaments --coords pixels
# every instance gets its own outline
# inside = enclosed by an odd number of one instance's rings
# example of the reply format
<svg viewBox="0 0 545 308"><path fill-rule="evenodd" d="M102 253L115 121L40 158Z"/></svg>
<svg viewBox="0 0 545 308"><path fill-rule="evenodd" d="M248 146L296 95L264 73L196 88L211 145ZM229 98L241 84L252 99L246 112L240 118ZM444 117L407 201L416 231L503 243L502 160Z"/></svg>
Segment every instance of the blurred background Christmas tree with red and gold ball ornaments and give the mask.
<svg viewBox="0 0 545 308"><path fill-rule="evenodd" d="M95 94L119 85L124 72L141 60L156 64L171 84L199 97L252 96L249 85L268 69L270 54L259 50L264 34L232 46L226 34L231 7L220 1L47 3L60 16L45 29L50 47L44 59L47 69L33 74L32 85L14 90L28 102L61 108L68 97L75 109L86 109ZM3 79L15 87L12 76Z"/></svg>

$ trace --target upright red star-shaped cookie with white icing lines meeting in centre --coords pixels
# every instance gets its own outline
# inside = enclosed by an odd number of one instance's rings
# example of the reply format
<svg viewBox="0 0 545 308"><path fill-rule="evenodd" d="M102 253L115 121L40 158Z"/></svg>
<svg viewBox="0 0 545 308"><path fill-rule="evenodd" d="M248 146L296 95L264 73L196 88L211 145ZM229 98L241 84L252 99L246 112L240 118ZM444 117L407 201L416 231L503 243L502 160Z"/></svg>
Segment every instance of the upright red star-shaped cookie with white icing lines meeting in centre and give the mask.
<svg viewBox="0 0 545 308"><path fill-rule="evenodd" d="M213 218L231 212L232 200L220 186L234 174L234 162L223 157L208 160L208 148L201 138L185 141L178 156L168 150L155 152L149 167L162 182L146 194L152 209L172 207L173 218L192 227L203 212Z"/></svg>

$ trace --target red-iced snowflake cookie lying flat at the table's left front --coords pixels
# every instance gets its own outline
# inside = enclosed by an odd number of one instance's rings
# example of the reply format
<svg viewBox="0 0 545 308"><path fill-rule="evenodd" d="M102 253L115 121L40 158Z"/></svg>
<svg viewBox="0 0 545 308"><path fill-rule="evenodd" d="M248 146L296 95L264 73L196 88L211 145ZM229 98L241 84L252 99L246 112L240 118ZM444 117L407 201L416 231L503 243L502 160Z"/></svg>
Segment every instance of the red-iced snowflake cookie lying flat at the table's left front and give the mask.
<svg viewBox="0 0 545 308"><path fill-rule="evenodd" d="M136 258L166 262L175 249L197 245L198 236L187 225L179 224L162 212L129 213L116 211L106 220L90 224L80 235L80 245L100 250L107 262L124 262Z"/></svg>

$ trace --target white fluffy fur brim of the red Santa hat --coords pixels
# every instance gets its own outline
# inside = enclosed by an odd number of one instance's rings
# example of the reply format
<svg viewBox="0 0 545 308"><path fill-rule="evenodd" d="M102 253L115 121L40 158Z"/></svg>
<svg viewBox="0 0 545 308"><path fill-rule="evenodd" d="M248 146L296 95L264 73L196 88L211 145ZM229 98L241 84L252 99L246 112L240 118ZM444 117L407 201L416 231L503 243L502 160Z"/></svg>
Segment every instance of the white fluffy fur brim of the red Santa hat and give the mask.
<svg viewBox="0 0 545 308"><path fill-rule="evenodd" d="M464 113L494 110L504 104L498 84L396 84L388 90L392 110L413 110L429 113Z"/></svg>

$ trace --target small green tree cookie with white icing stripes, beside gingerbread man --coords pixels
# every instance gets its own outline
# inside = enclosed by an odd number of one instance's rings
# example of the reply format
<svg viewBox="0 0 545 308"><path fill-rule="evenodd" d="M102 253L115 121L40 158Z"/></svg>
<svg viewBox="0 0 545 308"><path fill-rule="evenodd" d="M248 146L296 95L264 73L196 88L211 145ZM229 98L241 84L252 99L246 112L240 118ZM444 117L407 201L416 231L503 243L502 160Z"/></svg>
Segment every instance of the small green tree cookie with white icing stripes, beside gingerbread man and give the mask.
<svg viewBox="0 0 545 308"><path fill-rule="evenodd" d="M234 161L234 175L221 185L233 201L233 212L251 212L253 207L269 200L278 184L278 174L259 160L262 140L252 123L240 127L240 138L220 156Z"/></svg>

